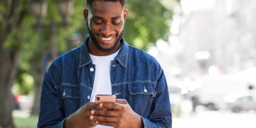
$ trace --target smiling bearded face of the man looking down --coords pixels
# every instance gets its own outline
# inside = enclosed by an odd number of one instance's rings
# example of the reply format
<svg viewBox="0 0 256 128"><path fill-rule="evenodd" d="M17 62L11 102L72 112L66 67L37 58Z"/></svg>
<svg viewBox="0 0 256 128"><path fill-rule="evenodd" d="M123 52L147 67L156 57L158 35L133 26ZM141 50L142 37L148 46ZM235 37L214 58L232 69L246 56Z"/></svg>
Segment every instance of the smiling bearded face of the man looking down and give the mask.
<svg viewBox="0 0 256 128"><path fill-rule="evenodd" d="M119 1L93 1L92 7L84 11L90 34L90 48L99 52L112 53L120 46L124 33L127 11ZM118 47L119 48L119 47Z"/></svg>

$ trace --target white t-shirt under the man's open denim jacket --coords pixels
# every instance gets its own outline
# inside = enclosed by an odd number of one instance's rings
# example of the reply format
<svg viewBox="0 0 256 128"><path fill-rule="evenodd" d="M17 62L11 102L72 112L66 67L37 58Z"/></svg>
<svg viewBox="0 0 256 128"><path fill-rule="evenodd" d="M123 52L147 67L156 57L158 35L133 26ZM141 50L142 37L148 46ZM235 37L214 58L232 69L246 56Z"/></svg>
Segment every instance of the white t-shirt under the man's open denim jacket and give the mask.
<svg viewBox="0 0 256 128"><path fill-rule="evenodd" d="M112 55L96 56L91 55L92 63L95 64L95 80L93 82L92 95L90 102L95 102L96 95L112 95L110 80L110 63L117 56L119 50ZM107 126L97 125L95 128L108 128Z"/></svg>

